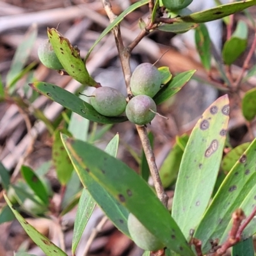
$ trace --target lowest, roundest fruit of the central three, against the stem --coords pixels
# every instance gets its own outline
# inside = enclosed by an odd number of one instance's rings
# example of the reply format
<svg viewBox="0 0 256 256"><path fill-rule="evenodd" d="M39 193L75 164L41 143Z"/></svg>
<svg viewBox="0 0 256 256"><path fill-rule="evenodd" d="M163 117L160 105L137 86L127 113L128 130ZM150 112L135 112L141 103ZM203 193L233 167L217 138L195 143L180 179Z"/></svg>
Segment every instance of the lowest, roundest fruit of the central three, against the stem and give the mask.
<svg viewBox="0 0 256 256"><path fill-rule="evenodd" d="M147 95L133 97L127 104L125 113L130 122L138 125L150 123L155 117L156 103Z"/></svg>

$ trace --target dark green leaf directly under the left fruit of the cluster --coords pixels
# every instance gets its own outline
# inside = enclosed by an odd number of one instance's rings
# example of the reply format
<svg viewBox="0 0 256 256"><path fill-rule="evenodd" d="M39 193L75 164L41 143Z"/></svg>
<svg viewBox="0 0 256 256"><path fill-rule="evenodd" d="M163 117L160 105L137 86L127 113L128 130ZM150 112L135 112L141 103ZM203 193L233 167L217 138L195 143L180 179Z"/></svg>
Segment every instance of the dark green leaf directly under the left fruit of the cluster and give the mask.
<svg viewBox="0 0 256 256"><path fill-rule="evenodd" d="M68 92L56 86L55 84L49 84L44 82L37 82L29 84L36 92L45 95L47 98L58 102L63 107L70 109L71 111L83 116L93 122L102 124L115 124L127 121L126 116L107 117L100 115L89 103L80 99L73 93Z"/></svg>

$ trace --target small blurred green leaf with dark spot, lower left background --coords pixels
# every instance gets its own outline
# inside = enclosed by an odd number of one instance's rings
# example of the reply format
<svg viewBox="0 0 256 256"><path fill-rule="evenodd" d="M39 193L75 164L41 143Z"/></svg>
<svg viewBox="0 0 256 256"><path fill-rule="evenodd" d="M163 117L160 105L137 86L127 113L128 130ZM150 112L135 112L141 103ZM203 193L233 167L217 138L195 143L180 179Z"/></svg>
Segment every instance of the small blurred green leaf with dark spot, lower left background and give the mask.
<svg viewBox="0 0 256 256"><path fill-rule="evenodd" d="M35 192L35 195L37 195L45 205L48 205L48 193L40 177L28 166L23 165L20 171L23 179L26 180L28 186Z"/></svg>

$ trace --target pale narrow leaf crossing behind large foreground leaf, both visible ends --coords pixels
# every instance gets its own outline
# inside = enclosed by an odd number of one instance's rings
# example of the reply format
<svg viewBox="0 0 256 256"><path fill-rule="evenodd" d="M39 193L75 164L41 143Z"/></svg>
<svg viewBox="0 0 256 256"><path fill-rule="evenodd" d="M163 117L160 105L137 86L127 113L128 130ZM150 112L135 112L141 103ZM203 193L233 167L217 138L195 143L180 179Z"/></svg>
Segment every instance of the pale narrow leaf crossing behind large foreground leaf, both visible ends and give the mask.
<svg viewBox="0 0 256 256"><path fill-rule="evenodd" d="M109 141L105 151L111 156L116 157L119 143L119 135ZM95 200L93 200L90 192L87 189L83 189L81 198L79 200L79 205L76 214L76 220L74 225L74 235L72 239L72 253L75 255L77 244L79 243L81 236L83 234L84 228L93 212L95 207Z"/></svg>

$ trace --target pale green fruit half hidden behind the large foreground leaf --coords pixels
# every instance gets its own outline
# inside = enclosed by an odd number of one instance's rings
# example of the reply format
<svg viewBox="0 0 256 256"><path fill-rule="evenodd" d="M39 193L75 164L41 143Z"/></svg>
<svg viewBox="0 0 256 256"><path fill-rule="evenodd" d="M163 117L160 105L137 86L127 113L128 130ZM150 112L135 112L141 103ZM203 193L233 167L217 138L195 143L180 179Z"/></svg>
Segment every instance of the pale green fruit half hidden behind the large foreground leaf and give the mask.
<svg viewBox="0 0 256 256"><path fill-rule="evenodd" d="M131 213L128 216L127 225L132 240L143 250L156 252L164 248L163 243L153 236Z"/></svg>

